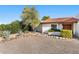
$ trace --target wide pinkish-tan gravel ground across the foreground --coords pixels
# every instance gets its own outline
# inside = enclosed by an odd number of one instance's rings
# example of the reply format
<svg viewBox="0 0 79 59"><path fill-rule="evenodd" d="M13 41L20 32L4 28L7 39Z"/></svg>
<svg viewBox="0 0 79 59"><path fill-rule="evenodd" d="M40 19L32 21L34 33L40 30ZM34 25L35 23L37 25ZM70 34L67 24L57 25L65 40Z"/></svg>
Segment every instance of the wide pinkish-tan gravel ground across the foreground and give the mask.
<svg viewBox="0 0 79 59"><path fill-rule="evenodd" d="M78 54L76 39L54 39L42 34L24 34L16 39L0 42L1 54Z"/></svg>

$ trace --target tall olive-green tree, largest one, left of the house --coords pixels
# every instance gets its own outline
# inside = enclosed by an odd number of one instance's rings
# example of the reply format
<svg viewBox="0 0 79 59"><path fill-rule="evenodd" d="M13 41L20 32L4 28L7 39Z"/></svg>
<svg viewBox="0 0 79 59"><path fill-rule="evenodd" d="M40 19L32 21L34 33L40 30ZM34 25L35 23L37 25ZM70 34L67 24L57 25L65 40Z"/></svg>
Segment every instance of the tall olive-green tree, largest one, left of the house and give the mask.
<svg viewBox="0 0 79 59"><path fill-rule="evenodd" d="M40 23L38 16L38 12L34 6L28 8L25 7L22 13L22 25L24 26L23 29L31 29L31 31L34 30L34 28Z"/></svg>

